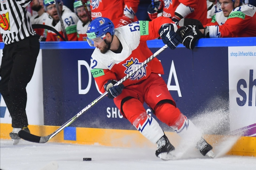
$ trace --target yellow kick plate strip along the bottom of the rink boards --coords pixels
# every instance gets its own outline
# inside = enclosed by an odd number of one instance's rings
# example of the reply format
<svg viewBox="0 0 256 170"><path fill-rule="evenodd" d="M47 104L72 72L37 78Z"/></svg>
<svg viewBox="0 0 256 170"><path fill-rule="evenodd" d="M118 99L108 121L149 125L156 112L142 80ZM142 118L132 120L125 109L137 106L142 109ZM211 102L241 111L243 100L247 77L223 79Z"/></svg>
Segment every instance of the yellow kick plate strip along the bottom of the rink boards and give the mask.
<svg viewBox="0 0 256 170"><path fill-rule="evenodd" d="M37 136L47 136L54 132L60 126L39 126L28 125L30 132ZM0 123L0 139L11 139L9 133L12 131L12 125ZM180 137L174 132L165 132L170 142L177 146ZM222 135L204 135L208 143L214 144L221 141ZM69 144L87 144L103 145L112 147L156 147L149 142L137 130L120 129L97 129L97 128L76 128L76 141L64 140L64 131L53 137L49 142L69 143ZM228 155L256 156L256 137L239 137L232 148L227 152Z"/></svg>

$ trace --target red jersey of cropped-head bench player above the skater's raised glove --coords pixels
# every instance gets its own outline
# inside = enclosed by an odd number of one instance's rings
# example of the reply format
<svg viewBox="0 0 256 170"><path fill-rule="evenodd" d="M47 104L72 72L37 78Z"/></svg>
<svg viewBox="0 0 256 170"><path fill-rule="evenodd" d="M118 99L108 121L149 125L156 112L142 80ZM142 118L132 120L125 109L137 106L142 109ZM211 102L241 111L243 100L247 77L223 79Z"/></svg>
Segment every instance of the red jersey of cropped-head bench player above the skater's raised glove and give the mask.
<svg viewBox="0 0 256 170"><path fill-rule="evenodd" d="M190 10L193 11L186 18L198 19L203 25L207 24L207 5L205 0L164 0L163 16L174 17L174 12L180 4L190 7ZM182 15L183 11L176 12Z"/></svg>

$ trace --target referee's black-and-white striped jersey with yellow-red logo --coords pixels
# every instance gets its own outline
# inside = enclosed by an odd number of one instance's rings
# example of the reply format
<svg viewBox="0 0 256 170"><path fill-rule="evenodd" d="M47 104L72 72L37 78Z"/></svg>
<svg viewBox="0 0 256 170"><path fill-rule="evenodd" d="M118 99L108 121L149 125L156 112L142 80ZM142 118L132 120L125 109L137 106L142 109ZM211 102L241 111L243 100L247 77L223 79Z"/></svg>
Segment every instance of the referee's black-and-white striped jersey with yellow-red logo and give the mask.
<svg viewBox="0 0 256 170"><path fill-rule="evenodd" d="M4 44L35 35L26 6L32 0L0 0L0 33Z"/></svg>

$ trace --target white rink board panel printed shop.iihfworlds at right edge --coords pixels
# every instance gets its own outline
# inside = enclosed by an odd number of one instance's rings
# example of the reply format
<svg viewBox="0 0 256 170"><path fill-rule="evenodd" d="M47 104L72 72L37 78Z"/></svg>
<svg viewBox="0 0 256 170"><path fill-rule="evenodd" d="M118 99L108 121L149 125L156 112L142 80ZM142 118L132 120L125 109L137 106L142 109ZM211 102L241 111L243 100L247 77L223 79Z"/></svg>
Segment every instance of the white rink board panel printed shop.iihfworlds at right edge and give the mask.
<svg viewBox="0 0 256 170"><path fill-rule="evenodd" d="M252 81L256 82L256 46L228 47L228 80L229 80L229 114L230 130L236 130L256 123L256 86L249 94L250 70L253 70ZM241 82L243 85L241 85ZM240 88L240 89L239 89ZM238 90L237 90L238 89ZM241 96L242 94L243 96ZM246 95L246 97L245 97ZM252 95L252 106L249 106L249 95ZM245 101L239 106L239 101ZM240 104L241 105L241 104Z"/></svg>

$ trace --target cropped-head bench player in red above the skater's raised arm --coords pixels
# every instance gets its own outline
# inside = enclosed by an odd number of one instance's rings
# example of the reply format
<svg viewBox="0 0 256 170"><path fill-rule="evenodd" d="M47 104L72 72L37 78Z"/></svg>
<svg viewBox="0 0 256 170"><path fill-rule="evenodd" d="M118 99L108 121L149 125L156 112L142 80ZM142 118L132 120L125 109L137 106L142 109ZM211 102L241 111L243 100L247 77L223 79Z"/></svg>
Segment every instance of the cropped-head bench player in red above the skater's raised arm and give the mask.
<svg viewBox="0 0 256 170"><path fill-rule="evenodd" d="M179 24L182 18L194 18L207 24L207 5L205 0L154 0L153 4L148 6L148 16L151 20L157 17L157 14L163 12L164 17L171 17Z"/></svg>

